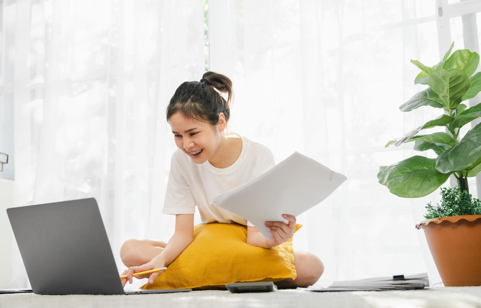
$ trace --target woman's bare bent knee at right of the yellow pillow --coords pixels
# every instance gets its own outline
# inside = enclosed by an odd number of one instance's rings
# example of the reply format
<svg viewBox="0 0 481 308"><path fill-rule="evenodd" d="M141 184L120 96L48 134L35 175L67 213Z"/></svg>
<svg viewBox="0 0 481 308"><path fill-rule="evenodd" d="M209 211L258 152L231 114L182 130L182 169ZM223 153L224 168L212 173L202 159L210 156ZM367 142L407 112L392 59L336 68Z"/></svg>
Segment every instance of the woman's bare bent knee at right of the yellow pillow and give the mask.
<svg viewBox="0 0 481 308"><path fill-rule="evenodd" d="M294 251L294 266L297 277L274 282L279 289L307 287L316 283L324 272L324 264L315 255L306 251Z"/></svg>

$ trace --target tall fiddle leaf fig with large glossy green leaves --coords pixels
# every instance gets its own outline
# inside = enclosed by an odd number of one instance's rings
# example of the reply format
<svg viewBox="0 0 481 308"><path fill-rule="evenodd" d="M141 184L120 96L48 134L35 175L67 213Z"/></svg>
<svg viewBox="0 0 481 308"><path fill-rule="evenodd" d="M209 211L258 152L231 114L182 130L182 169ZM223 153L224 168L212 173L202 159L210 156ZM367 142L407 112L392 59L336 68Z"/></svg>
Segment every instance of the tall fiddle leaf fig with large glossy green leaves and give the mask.
<svg viewBox="0 0 481 308"><path fill-rule="evenodd" d="M481 123L459 140L460 129L481 117L481 103L468 109L462 103L481 91L481 72L471 76L478 67L480 57L477 52L468 49L451 54L453 47L454 42L443 59L433 66L411 60L421 69L414 83L429 87L416 93L399 109L407 112L431 106L442 109L443 114L386 144L389 147L414 142L414 150L432 150L438 155L437 158L415 155L396 164L379 167L379 182L399 197L426 196L439 188L450 175L456 177L460 192L468 193L467 178L481 171ZM447 132L425 132L434 127L444 127Z"/></svg>

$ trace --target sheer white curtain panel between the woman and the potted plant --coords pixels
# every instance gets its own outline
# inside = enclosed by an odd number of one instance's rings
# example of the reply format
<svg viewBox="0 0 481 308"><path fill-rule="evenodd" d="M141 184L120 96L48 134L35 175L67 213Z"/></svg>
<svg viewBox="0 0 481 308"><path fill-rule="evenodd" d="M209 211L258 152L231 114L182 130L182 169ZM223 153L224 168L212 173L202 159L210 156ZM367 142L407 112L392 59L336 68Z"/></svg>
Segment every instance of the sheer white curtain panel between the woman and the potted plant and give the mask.
<svg viewBox="0 0 481 308"><path fill-rule="evenodd" d="M298 217L294 249L324 261L319 284L426 271L441 281L415 229L437 193L399 198L376 177L414 154L387 141L439 116L398 109L422 90L409 60L438 60L435 13L434 1L209 0L210 69L236 95L230 129L276 163L298 151L348 178Z"/></svg>

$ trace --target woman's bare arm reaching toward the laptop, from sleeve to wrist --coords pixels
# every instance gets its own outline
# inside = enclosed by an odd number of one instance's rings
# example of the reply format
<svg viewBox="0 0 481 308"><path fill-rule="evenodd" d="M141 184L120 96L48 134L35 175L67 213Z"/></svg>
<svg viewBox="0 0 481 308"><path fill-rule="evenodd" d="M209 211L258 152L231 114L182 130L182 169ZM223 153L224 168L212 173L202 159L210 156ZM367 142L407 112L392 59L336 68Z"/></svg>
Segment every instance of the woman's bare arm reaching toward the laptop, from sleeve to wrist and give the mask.
<svg viewBox="0 0 481 308"><path fill-rule="evenodd" d="M176 230L165 248L155 259L164 266L172 263L194 240L194 214L177 214Z"/></svg>

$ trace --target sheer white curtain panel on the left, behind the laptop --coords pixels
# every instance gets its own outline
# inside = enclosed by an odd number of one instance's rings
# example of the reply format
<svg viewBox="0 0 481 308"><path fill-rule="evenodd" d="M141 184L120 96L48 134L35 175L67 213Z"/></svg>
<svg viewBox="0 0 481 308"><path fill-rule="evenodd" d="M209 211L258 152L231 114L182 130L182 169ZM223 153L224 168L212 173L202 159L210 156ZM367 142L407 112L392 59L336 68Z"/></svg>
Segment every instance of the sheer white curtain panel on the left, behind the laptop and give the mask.
<svg viewBox="0 0 481 308"><path fill-rule="evenodd" d="M15 205L95 197L120 272L125 240L167 241L174 231L175 218L161 214L176 148L165 108L205 71L203 3L2 3ZM25 286L18 249L13 260L11 287Z"/></svg>

